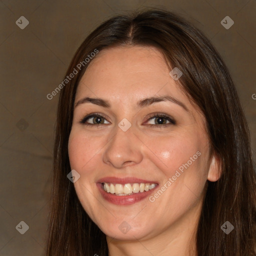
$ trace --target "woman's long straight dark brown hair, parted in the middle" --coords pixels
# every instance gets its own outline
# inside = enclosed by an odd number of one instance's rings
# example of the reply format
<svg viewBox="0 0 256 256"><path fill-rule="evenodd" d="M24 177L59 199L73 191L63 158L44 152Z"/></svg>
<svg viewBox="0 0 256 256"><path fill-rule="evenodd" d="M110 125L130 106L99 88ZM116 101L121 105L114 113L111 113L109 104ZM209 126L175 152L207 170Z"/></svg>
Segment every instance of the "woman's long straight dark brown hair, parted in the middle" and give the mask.
<svg viewBox="0 0 256 256"><path fill-rule="evenodd" d="M77 64L91 52L121 45L158 48L170 68L182 71L181 89L205 116L212 153L220 159L222 172L219 180L206 184L196 233L197 254L255 256L256 178L249 130L232 78L216 49L198 29L171 12L118 15L87 36L66 75L77 70ZM88 217L66 177L75 92L89 65L82 63L61 89L58 101L47 256L108 254L104 233ZM220 228L225 221L234 226L229 234Z"/></svg>

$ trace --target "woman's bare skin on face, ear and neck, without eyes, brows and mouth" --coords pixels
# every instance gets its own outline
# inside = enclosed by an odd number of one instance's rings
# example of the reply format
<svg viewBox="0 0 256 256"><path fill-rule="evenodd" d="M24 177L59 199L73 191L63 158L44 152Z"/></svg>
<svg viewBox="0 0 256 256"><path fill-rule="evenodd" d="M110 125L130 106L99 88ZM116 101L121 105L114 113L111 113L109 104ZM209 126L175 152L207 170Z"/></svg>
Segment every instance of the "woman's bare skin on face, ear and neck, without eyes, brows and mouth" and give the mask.
<svg viewBox="0 0 256 256"><path fill-rule="evenodd" d="M109 255L196 255L203 189L207 179L219 178L218 161L210 154L204 116L169 71L156 48L114 47L91 60L77 87L75 103L89 96L111 105L77 105L68 142L71 169L80 174L75 191L106 234ZM175 97L187 110L170 101L136 105L142 98L160 95ZM79 123L94 112L103 114L105 123ZM149 116L156 112L172 116L176 123L158 124L157 117ZM127 131L118 127L123 118L131 123ZM115 205L103 199L96 186L102 177L134 176L156 180L160 188L197 151L201 155L153 202L145 198L131 205ZM125 234L118 228L123 221L131 227Z"/></svg>

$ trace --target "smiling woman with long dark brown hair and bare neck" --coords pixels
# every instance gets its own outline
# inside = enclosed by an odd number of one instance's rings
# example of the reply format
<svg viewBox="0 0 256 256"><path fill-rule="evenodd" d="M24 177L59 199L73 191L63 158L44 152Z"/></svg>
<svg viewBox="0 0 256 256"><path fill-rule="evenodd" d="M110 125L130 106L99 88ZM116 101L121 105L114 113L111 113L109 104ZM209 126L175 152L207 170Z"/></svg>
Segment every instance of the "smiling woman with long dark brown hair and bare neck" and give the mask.
<svg viewBox="0 0 256 256"><path fill-rule="evenodd" d="M113 17L65 79L48 256L256 255L249 131L201 32L161 10Z"/></svg>

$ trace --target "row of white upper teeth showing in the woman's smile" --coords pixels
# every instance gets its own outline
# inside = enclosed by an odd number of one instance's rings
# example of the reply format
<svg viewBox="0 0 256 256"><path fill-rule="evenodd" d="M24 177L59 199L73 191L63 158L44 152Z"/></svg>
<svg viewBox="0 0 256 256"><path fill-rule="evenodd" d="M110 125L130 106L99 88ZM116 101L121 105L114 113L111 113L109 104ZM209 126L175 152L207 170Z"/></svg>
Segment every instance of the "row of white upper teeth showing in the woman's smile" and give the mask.
<svg viewBox="0 0 256 256"><path fill-rule="evenodd" d="M126 195L132 193L138 193L148 191L156 186L155 183L127 183L127 184L112 184L103 183L103 188L107 193L115 193L116 195Z"/></svg>

